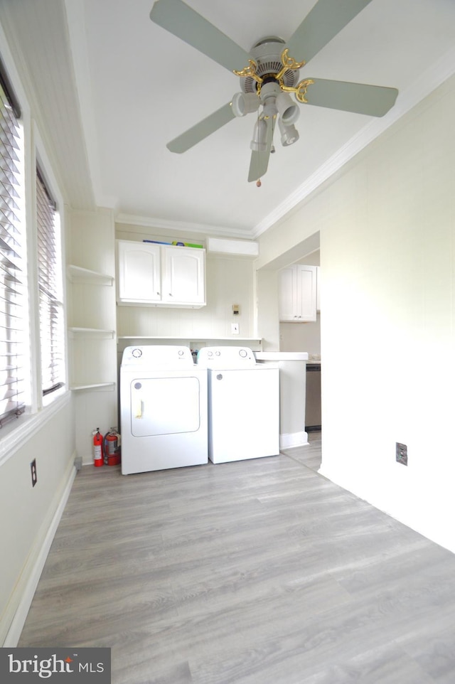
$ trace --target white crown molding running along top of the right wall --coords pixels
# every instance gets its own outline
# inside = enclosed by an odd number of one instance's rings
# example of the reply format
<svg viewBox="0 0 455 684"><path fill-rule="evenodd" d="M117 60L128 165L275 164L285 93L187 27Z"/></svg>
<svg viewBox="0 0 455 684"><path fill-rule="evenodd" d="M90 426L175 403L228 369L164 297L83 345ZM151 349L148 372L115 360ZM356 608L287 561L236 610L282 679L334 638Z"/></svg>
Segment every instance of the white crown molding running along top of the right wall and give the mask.
<svg viewBox="0 0 455 684"><path fill-rule="evenodd" d="M451 48L446 54L429 67L414 83L398 95L397 102L390 112L380 119L373 119L363 129L355 134L333 154L325 164L319 166L314 173L306 179L297 190L289 195L284 202L279 204L269 215L260 221L252 230L252 239L255 240L268 228L282 219L291 209L319 188L322 183L339 171L350 159L368 146L380 134L390 128L398 119L401 119L410 109L413 109L425 97L430 95L444 81L455 73L455 48Z"/></svg>

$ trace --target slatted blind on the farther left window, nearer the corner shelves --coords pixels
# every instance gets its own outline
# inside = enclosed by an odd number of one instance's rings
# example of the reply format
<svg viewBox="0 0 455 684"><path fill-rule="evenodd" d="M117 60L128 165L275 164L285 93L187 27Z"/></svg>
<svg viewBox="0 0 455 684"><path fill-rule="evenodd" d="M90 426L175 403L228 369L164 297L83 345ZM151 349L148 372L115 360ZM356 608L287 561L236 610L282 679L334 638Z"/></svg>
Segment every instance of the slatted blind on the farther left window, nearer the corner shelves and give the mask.
<svg viewBox="0 0 455 684"><path fill-rule="evenodd" d="M40 306L41 386L43 395L63 387L65 381L65 336L63 332L63 285L60 235L55 202L43 177L36 173L38 226L38 287Z"/></svg>

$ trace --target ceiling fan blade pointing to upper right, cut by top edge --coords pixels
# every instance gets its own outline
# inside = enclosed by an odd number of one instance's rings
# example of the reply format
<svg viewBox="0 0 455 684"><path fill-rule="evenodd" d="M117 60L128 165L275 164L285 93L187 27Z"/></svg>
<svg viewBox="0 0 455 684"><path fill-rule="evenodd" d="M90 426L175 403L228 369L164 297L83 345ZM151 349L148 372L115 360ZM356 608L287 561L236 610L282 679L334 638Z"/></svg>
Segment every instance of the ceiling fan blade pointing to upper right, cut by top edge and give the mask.
<svg viewBox="0 0 455 684"><path fill-rule="evenodd" d="M319 0L296 29L286 47L297 62L319 53L371 0Z"/></svg>

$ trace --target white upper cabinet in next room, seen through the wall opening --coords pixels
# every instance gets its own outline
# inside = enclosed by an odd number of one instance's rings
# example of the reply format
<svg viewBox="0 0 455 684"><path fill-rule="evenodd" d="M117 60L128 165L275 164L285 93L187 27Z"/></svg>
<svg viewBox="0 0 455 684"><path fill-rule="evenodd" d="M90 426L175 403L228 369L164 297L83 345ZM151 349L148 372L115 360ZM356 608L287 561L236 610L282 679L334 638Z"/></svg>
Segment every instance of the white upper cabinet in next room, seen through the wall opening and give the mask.
<svg viewBox="0 0 455 684"><path fill-rule="evenodd" d="M316 266L294 264L280 271L279 320L316 321Z"/></svg>

